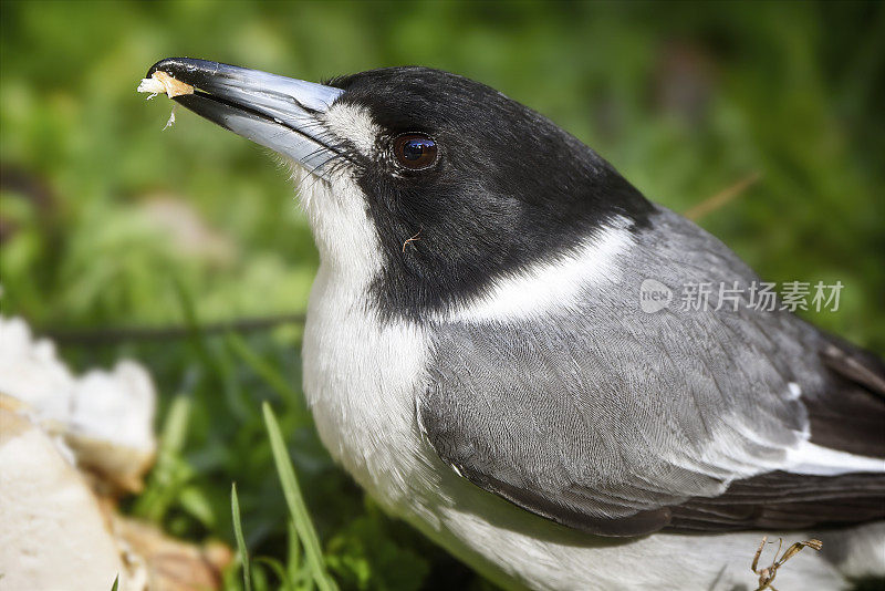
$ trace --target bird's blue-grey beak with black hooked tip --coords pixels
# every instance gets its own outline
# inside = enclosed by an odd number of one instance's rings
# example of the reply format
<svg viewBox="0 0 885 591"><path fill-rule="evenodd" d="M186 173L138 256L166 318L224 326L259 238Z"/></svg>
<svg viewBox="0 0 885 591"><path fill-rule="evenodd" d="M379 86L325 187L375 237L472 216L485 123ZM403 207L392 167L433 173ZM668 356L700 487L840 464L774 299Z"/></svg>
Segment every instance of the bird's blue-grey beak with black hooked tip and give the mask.
<svg viewBox="0 0 885 591"><path fill-rule="evenodd" d="M189 58L162 60L147 77L157 71L194 86L194 94L174 101L314 174L321 175L336 153L336 139L322 120L341 89Z"/></svg>

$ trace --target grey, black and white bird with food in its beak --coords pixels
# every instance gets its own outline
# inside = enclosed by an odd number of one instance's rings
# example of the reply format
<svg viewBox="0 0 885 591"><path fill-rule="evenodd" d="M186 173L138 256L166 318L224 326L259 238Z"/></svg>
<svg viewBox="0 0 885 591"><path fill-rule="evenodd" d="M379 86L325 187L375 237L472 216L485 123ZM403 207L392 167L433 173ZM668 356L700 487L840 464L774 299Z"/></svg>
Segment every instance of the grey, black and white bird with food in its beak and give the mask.
<svg viewBox="0 0 885 591"><path fill-rule="evenodd" d="M823 541L782 589L885 576L883 361L753 305L737 255L573 135L424 66L157 73L292 163L304 395L388 514L504 589L750 589L763 535Z"/></svg>

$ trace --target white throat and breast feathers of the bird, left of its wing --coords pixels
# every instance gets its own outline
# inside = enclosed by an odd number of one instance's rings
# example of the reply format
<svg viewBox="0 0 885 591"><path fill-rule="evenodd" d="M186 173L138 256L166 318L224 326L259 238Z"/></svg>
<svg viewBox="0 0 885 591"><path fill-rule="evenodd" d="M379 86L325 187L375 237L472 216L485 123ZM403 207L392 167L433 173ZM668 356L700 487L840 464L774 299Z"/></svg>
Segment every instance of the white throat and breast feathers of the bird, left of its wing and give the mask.
<svg viewBox="0 0 885 591"><path fill-rule="evenodd" d="M308 307L304 394L320 438L360 485L402 514L426 470L415 425L415 392L428 340L406 323L382 324L368 286L382 266L365 196L346 174L316 182L293 170L322 263ZM426 484L425 484L426 486Z"/></svg>

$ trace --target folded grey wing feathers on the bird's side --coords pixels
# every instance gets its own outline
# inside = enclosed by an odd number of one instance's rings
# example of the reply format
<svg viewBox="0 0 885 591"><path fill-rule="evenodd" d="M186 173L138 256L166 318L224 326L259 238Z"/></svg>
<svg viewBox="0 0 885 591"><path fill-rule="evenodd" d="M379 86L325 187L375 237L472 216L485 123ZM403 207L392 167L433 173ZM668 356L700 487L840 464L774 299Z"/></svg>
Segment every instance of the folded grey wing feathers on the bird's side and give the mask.
<svg viewBox="0 0 885 591"><path fill-rule="evenodd" d="M675 228L639 237L655 243L637 245L637 257L657 259L625 262L620 283L586 286L580 313L493 330L438 326L418 412L442 459L487 490L594 533L727 529L761 515L751 504L685 504L775 473L808 437L809 412L791 383L811 398L827 387L810 354L820 336L779 312L641 312L646 277L675 290L753 279L721 243L675 218L658 220Z"/></svg>

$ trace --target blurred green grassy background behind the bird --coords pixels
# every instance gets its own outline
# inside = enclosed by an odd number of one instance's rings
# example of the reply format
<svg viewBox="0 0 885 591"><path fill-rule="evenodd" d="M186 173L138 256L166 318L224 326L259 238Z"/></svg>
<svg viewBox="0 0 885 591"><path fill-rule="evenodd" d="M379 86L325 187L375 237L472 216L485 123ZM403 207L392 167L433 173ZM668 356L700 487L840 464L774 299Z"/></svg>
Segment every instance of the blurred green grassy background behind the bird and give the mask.
<svg viewBox="0 0 885 591"><path fill-rule="evenodd" d="M738 189L699 222L767 280L841 280L839 311L806 318L885 351L881 2L0 9L0 309L60 334L76 367L127 355L150 369L165 452L128 507L176 535L232 543L236 480L249 548L284 556L285 506L260 411L269 401L342 587L485 584L381 515L331 464L300 392L298 322L201 329L302 313L317 256L267 151L184 111L162 131L168 101L135 93L162 58L308 80L424 64L486 82L677 211ZM186 330L105 332L135 325ZM170 407L184 412L170 419Z"/></svg>

